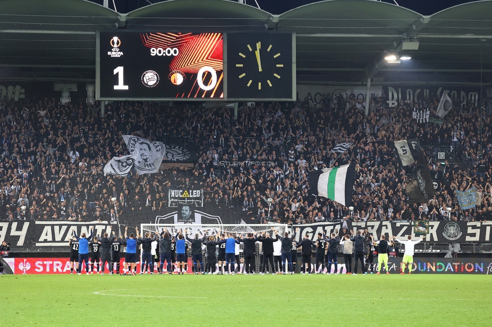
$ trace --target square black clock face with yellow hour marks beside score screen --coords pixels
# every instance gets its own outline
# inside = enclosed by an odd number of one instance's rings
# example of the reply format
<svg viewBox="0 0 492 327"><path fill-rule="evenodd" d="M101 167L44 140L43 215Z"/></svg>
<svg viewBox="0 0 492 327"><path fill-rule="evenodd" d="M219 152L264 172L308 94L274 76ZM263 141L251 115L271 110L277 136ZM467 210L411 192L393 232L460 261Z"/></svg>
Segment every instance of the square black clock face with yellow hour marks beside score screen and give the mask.
<svg viewBox="0 0 492 327"><path fill-rule="evenodd" d="M227 34L227 98L292 100L292 34Z"/></svg>

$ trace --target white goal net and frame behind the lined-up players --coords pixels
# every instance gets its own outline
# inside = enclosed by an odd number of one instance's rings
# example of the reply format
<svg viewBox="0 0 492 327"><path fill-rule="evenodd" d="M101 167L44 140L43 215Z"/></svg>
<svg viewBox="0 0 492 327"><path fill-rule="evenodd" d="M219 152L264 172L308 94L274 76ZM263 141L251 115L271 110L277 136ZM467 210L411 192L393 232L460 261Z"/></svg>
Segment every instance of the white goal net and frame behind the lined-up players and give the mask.
<svg viewBox="0 0 492 327"><path fill-rule="evenodd" d="M195 225L195 224L141 224L141 231L142 235L145 235L146 232L149 232L151 234L158 233L160 234L161 232L164 231L164 228L167 228L167 231L171 234L171 236L175 236L179 229L181 229L181 232L185 234L185 229L187 230L187 234L189 238L194 238L195 233L201 233L200 238L203 237L202 235L204 234L204 231L206 230L206 235L207 236L218 236L218 232L220 233L228 233L231 232L234 235L242 235L245 237L247 233L262 233L262 232L269 232L272 236L274 235L272 231L272 227L277 230L279 236L283 236L284 233L287 231L289 235L292 233L290 228L287 227L287 224L238 224L238 225L226 225L226 224L200 224L200 225ZM187 242L188 243L188 242ZM274 242L275 248L280 248L280 241ZM236 248L237 249L237 248ZM218 246L216 247L216 255L218 256ZM260 242L256 242L256 254L255 254L255 262L256 262L256 273L260 272ZM203 262L204 264L206 263L206 255L205 255L205 246L202 246L202 254L203 254ZM237 252L236 252L237 254ZM278 254L280 254L280 250L278 250ZM187 272L192 273L193 269L193 262L192 262L192 252L191 252L191 247L188 247L187 249L187 258L188 258L188 265L187 265ZM237 258L237 256L236 256ZM244 265L243 265L243 244L242 242L239 244L239 262L235 262L235 271L238 273L244 273ZM216 265L216 271L218 270L218 263ZM166 265L163 267L164 272L166 271ZM271 268L271 271L274 273L277 270L281 271L282 266L280 265L277 268Z"/></svg>

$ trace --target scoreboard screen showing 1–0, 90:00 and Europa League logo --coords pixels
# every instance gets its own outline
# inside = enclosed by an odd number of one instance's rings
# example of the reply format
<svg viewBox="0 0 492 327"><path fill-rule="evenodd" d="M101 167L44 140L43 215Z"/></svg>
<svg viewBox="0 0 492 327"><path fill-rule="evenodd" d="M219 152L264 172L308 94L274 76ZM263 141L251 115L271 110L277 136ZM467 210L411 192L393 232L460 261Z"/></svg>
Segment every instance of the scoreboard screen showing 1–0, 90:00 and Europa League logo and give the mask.
<svg viewBox="0 0 492 327"><path fill-rule="evenodd" d="M224 98L222 33L99 32L98 100Z"/></svg>

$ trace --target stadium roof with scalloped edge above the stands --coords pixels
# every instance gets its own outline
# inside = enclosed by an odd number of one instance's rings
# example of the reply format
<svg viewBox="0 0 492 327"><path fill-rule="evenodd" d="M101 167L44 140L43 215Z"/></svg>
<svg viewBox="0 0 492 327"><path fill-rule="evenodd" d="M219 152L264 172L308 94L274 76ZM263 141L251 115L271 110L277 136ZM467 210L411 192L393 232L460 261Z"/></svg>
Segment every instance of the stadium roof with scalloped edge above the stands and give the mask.
<svg viewBox="0 0 492 327"><path fill-rule="evenodd" d="M492 71L492 0L431 16L373 0L329 0L281 15L227 0L171 0L128 14L85 0L0 0L0 79L91 80L97 30L294 32L300 84L360 84L428 73L476 83ZM385 55L412 60L388 65Z"/></svg>

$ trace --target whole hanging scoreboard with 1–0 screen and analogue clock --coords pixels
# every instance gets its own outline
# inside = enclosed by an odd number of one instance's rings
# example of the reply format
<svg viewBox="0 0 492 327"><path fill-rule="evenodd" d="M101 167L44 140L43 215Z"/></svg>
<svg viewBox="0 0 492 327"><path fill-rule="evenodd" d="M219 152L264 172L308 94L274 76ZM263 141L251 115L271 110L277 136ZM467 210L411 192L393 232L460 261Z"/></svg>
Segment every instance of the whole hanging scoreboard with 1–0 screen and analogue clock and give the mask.
<svg viewBox="0 0 492 327"><path fill-rule="evenodd" d="M99 31L97 100L295 100L295 35Z"/></svg>

